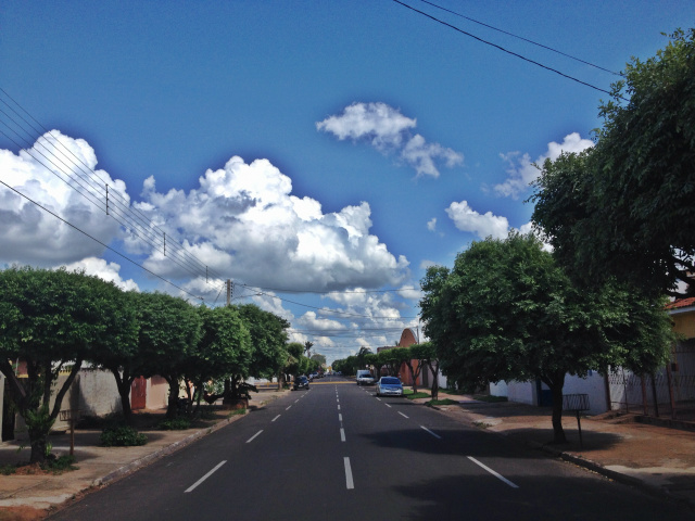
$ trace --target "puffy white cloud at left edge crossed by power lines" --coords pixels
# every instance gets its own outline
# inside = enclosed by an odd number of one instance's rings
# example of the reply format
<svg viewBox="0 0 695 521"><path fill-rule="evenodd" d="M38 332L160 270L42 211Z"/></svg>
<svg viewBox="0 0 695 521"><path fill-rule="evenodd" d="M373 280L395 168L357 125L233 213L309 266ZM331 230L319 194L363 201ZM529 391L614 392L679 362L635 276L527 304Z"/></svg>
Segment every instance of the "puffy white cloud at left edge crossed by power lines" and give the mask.
<svg viewBox="0 0 695 521"><path fill-rule="evenodd" d="M103 245L64 223L104 244L121 233L118 223L106 216L104 185L112 202L118 196L127 207L125 183L96 167L97 156L85 140L58 130L18 154L0 150L0 179L16 190L0 186L0 263L52 267L102 254Z"/></svg>

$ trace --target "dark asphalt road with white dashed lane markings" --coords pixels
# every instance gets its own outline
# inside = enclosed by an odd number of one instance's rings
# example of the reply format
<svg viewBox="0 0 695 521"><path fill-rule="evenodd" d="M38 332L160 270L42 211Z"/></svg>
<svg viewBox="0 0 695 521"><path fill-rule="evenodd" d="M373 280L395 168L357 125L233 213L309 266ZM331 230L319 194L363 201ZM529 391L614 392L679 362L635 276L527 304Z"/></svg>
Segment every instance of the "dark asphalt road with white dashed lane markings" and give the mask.
<svg viewBox="0 0 695 521"><path fill-rule="evenodd" d="M332 377L54 520L655 520L692 511Z"/></svg>

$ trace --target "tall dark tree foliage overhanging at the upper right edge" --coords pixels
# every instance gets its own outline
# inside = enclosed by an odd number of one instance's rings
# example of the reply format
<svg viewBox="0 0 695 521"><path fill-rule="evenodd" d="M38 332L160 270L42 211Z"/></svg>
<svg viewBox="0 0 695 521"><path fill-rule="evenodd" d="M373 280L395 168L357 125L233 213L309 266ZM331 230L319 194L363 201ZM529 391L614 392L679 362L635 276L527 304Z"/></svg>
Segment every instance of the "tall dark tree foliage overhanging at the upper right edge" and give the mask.
<svg viewBox="0 0 695 521"><path fill-rule="evenodd" d="M652 295L682 294L680 282L695 295L695 29L632 59L611 92L596 147L546 161L533 221L586 282L618 278Z"/></svg>

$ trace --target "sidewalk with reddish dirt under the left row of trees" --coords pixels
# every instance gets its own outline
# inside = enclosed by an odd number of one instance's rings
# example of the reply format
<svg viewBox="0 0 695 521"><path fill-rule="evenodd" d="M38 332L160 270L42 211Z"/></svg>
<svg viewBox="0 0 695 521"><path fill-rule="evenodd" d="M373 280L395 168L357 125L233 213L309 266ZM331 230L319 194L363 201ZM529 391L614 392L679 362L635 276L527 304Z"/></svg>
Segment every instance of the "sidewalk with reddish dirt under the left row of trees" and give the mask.
<svg viewBox="0 0 695 521"><path fill-rule="evenodd" d="M262 392L254 394L250 409L263 407L289 391ZM139 429L148 436L148 443L139 447L102 447L101 430L75 431L75 466L78 470L62 474L0 474L0 520L31 521L43 519L59 506L78 498L92 487L105 485L155 459L210 434L211 432L240 420L244 415L229 416L230 411L220 410L216 419L204 428L186 431L161 431L156 429ZM247 412L252 414L252 412ZM148 416L164 418L164 411L148 411ZM3 442L0 444L0 467L27 462L30 447L22 447L28 442ZM53 454L61 456L70 453L70 434L52 434L50 443Z"/></svg>

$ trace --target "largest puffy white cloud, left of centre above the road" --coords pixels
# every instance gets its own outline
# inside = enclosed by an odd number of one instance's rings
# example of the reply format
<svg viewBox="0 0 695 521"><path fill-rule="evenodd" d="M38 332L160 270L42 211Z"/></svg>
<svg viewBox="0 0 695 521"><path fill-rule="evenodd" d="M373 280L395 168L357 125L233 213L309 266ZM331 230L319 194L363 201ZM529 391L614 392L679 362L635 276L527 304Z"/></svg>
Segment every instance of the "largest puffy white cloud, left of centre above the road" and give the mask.
<svg viewBox="0 0 695 521"><path fill-rule="evenodd" d="M407 259L369 233L368 203L324 214L318 201L291 191L290 178L269 161L247 164L235 156L208 169L188 193L160 193L148 179L136 206L208 267L254 284L331 290L394 284L407 275ZM162 252L144 265L168 277L185 275Z"/></svg>

